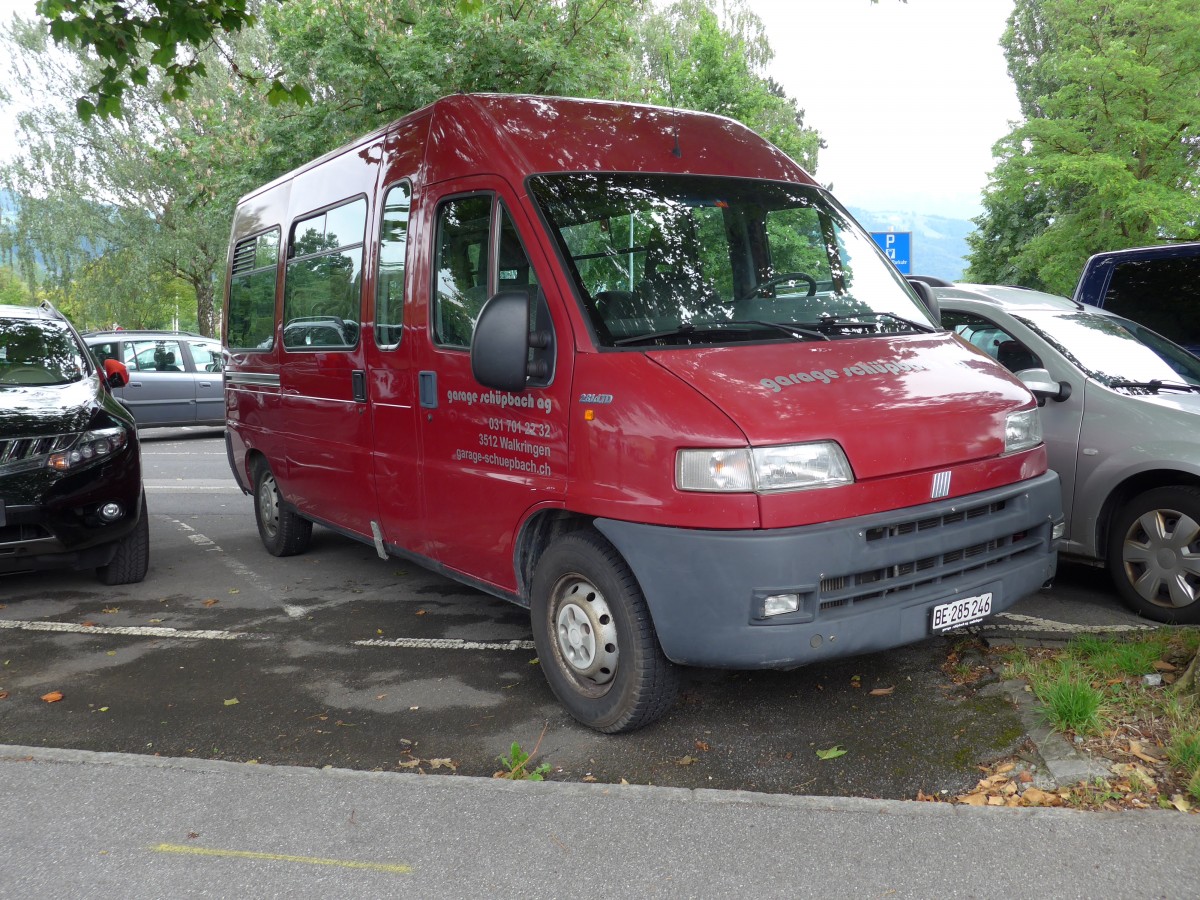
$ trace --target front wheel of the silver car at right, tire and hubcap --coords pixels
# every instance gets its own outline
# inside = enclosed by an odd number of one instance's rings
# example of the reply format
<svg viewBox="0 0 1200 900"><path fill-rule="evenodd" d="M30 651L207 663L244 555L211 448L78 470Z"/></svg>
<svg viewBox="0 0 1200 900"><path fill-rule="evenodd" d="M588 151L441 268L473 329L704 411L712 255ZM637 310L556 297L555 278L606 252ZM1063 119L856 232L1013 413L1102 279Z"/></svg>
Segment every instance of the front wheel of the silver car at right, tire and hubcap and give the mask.
<svg viewBox="0 0 1200 900"><path fill-rule="evenodd" d="M1108 564L1117 593L1140 616L1200 623L1200 490L1156 487L1112 522Z"/></svg>

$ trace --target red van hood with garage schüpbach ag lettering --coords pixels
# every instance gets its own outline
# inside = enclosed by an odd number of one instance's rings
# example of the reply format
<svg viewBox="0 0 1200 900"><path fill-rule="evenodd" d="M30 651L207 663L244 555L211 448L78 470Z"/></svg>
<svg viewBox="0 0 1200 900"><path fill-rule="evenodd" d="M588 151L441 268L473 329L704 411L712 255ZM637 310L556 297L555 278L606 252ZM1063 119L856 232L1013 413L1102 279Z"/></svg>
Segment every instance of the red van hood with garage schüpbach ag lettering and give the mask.
<svg viewBox="0 0 1200 900"><path fill-rule="evenodd" d="M1032 395L948 334L653 350L725 410L751 445L835 440L859 480L1004 452L1004 419Z"/></svg>

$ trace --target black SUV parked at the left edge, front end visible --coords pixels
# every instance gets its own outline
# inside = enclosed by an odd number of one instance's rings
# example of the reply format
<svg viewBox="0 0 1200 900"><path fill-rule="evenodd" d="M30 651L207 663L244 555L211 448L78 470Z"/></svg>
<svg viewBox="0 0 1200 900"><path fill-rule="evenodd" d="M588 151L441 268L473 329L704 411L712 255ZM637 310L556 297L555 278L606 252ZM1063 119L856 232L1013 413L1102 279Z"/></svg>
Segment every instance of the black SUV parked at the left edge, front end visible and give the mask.
<svg viewBox="0 0 1200 900"><path fill-rule="evenodd" d="M149 516L125 383L49 304L0 306L0 574L96 569L145 577Z"/></svg>

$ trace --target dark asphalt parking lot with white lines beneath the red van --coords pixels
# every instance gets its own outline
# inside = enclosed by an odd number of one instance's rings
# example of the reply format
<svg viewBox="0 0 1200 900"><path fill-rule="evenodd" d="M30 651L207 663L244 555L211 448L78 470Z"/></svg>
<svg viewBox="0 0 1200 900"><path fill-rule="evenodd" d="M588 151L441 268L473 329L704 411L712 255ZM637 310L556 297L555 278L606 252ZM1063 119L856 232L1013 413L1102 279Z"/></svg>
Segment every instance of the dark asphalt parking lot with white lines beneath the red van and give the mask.
<svg viewBox="0 0 1200 900"><path fill-rule="evenodd" d="M970 635L690 672L662 721L598 734L551 695L523 610L322 528L306 554L271 557L220 431L145 438L143 583L0 578L0 743L486 776L517 742L556 780L901 799L960 791L1025 742L1007 701L943 671L970 660ZM1102 572L1064 566L978 636L1146 626Z"/></svg>

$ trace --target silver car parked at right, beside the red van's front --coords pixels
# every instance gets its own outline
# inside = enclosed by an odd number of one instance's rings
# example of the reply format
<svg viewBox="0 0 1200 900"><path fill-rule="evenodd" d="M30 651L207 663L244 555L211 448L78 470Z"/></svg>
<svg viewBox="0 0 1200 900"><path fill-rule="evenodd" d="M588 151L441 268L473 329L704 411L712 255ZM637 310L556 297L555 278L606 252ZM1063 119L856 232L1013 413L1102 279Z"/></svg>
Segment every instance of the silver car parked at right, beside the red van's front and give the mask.
<svg viewBox="0 0 1200 900"><path fill-rule="evenodd" d="M1106 564L1141 616L1200 623L1200 358L1052 294L983 284L932 293L944 328L1043 401L1063 554Z"/></svg>

